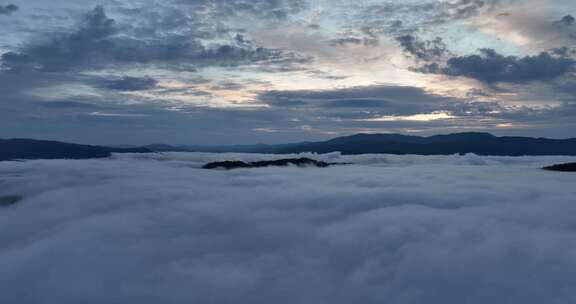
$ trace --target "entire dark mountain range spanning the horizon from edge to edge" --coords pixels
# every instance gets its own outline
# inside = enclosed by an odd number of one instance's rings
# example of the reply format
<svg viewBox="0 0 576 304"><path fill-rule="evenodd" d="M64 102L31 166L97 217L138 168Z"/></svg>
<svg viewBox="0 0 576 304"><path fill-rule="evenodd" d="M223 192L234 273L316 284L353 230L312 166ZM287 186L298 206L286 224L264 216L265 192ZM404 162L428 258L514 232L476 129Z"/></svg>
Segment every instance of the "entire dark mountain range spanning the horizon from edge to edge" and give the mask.
<svg viewBox="0 0 576 304"><path fill-rule="evenodd" d="M0 140L0 161L14 159L86 159L109 157L112 153L151 152L236 152L290 154L302 152L342 154L419 154L451 155L572 155L576 156L576 138L547 139L497 137L489 133L456 133L430 137L399 134L357 134L321 142L281 145L170 146L149 145L134 148L89 146L32 139Z"/></svg>

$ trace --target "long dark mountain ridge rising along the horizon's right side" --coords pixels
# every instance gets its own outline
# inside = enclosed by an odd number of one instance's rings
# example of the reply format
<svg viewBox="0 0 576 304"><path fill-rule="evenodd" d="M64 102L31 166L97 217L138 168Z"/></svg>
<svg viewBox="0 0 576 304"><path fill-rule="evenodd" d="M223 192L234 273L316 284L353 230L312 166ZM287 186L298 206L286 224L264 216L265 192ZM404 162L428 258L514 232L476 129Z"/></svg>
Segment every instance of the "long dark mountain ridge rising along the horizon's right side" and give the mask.
<svg viewBox="0 0 576 304"><path fill-rule="evenodd" d="M240 153L329 153L342 154L419 154L451 155L576 155L576 138L547 139L531 137L497 137L489 133L456 133L430 137L399 134L357 134L322 142L282 145L245 146L169 146L150 145L157 152L240 152Z"/></svg>

